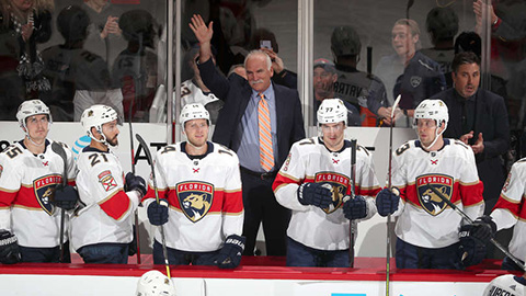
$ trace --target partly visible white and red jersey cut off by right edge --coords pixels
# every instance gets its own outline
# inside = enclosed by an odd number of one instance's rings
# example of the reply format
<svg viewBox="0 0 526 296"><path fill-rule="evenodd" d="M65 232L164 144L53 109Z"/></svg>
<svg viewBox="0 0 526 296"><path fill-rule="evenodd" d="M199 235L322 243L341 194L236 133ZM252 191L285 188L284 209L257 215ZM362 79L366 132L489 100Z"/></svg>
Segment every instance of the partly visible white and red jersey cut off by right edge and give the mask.
<svg viewBox="0 0 526 296"><path fill-rule="evenodd" d="M510 252L516 258L526 258L526 158L512 166L491 216L498 230L515 226Z"/></svg>

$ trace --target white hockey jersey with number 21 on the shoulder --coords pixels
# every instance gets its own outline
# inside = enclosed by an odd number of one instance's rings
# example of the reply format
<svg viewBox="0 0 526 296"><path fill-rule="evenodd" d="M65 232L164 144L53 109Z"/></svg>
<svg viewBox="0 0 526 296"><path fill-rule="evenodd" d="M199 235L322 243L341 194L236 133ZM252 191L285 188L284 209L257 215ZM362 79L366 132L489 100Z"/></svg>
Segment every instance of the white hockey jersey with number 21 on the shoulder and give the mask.
<svg viewBox="0 0 526 296"><path fill-rule="evenodd" d="M136 191L124 192L124 172L117 156L88 146L77 166L77 189L83 206L71 217L75 250L96 243L130 242L133 213L140 196Z"/></svg>

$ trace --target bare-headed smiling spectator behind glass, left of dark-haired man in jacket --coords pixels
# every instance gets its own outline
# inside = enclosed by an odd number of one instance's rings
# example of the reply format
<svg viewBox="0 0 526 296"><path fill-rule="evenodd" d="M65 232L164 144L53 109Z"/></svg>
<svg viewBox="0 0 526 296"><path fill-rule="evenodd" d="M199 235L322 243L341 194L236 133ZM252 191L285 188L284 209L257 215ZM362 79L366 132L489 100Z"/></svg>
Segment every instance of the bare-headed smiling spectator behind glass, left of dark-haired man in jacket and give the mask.
<svg viewBox="0 0 526 296"><path fill-rule="evenodd" d="M375 73L384 81L389 104L401 94L400 109L407 118L397 122L410 126L414 107L424 99L444 90L446 82L439 65L426 57L420 49L419 24L400 19L391 31L391 45L396 54L382 57Z"/></svg>

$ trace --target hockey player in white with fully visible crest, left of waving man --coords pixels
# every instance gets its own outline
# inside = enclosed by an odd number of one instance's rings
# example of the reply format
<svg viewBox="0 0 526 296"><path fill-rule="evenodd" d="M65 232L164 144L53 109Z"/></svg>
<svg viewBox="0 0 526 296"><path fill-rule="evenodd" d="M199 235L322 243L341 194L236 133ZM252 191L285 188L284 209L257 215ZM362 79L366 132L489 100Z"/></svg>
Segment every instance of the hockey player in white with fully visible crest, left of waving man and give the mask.
<svg viewBox="0 0 526 296"><path fill-rule="evenodd" d="M243 202L237 155L207 141L209 115L198 103L183 107L180 123L187 140L156 155L160 203L152 180L142 204L152 225L164 225L170 264L233 269L244 249ZM162 264L161 235L156 231L153 262Z"/></svg>

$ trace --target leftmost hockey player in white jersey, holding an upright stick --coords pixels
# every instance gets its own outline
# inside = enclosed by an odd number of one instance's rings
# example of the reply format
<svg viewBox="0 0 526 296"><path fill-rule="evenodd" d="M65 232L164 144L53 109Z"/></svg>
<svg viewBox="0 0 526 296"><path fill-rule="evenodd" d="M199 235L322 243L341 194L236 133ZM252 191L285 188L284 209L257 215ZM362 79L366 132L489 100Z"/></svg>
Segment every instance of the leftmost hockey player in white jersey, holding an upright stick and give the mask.
<svg viewBox="0 0 526 296"><path fill-rule="evenodd" d="M65 163L47 138L53 119L46 104L41 100L23 102L16 119L25 137L0 153L0 262L59 262L60 210L56 207L71 208L77 195L75 190L70 195L68 186L67 193L57 194L60 198L54 201ZM71 150L62 147L72 185L75 161ZM66 234L64 239L67 241ZM70 262L68 246L65 243L62 262Z"/></svg>

